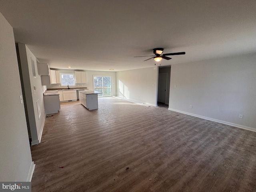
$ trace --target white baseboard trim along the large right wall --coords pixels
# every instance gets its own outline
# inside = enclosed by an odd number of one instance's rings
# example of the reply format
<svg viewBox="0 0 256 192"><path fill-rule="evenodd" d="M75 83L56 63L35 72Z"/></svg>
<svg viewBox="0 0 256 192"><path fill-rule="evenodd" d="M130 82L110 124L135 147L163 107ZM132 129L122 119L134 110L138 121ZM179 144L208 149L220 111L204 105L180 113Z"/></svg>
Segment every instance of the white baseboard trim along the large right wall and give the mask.
<svg viewBox="0 0 256 192"><path fill-rule="evenodd" d="M222 120L218 120L218 119L213 119L213 118L209 118L209 117L205 117L205 116L200 116L200 115L196 115L196 114L192 114L192 113L188 113L188 112L184 112L184 111L180 111L180 110L176 110L176 109L168 108L168 110L256 132L256 128L246 127L246 126L243 126L243 125L238 125L238 124L234 124L234 123L230 123L230 122L226 122L226 121L222 121Z"/></svg>

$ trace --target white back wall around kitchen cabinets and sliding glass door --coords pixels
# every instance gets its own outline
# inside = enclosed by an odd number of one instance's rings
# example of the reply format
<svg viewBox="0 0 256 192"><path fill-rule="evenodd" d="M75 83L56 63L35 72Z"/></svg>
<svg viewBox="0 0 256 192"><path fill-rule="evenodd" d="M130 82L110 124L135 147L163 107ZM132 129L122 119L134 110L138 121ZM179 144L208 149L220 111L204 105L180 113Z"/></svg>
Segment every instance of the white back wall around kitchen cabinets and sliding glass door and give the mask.
<svg viewBox="0 0 256 192"><path fill-rule="evenodd" d="M75 73L75 71L83 71L83 70L71 70L71 69L56 69L60 70L60 73ZM112 94L116 96L116 72L112 71L86 71L86 81L84 84L76 84L76 86L70 86L70 88L79 88L79 87L87 87L90 90L93 90L93 76L112 76ZM52 84L47 86L48 89L52 88L60 88L60 84Z"/></svg>

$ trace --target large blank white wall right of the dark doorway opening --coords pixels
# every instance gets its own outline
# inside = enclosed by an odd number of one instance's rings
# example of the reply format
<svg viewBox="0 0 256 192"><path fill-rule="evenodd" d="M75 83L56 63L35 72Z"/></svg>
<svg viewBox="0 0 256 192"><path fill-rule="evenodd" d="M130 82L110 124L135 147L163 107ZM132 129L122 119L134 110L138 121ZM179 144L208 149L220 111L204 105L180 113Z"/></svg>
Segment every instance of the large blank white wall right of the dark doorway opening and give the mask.
<svg viewBox="0 0 256 192"><path fill-rule="evenodd" d="M256 54L175 64L169 109L256 130L255 83Z"/></svg>

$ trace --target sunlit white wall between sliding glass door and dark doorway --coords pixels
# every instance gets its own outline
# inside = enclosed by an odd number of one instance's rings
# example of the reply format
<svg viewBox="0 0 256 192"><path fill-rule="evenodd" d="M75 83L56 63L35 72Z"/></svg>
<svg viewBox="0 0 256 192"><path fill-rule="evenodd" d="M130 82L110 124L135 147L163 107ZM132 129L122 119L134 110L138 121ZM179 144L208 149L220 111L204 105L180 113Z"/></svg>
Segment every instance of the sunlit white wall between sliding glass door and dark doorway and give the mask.
<svg viewBox="0 0 256 192"><path fill-rule="evenodd" d="M157 67L116 72L117 96L156 106L157 82Z"/></svg>

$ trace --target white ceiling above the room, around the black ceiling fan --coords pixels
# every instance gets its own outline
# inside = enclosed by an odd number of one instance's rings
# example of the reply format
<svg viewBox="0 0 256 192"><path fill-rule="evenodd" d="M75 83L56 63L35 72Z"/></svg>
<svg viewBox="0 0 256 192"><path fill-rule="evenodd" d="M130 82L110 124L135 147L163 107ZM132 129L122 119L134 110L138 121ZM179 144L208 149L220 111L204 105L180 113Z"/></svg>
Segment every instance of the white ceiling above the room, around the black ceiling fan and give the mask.
<svg viewBox="0 0 256 192"><path fill-rule="evenodd" d="M256 52L256 0L0 0L0 12L51 68L152 67ZM159 63L156 63L159 65Z"/></svg>

